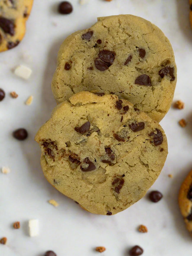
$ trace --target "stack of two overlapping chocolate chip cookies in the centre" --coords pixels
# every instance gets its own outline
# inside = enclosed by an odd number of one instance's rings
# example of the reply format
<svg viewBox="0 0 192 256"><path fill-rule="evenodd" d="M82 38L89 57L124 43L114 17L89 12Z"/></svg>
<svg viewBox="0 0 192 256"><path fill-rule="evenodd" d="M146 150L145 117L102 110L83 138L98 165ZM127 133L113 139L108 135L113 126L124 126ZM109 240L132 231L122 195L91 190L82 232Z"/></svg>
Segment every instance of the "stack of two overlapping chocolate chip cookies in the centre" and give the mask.
<svg viewBox="0 0 192 256"><path fill-rule="evenodd" d="M61 104L35 138L48 181L103 215L142 198L168 153L157 122L171 105L176 71L169 40L139 17L99 18L67 37L52 83Z"/></svg>

